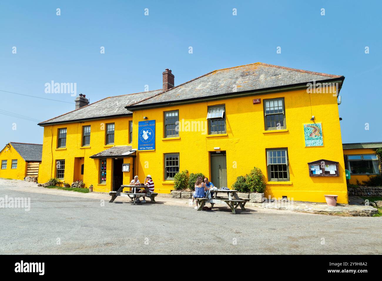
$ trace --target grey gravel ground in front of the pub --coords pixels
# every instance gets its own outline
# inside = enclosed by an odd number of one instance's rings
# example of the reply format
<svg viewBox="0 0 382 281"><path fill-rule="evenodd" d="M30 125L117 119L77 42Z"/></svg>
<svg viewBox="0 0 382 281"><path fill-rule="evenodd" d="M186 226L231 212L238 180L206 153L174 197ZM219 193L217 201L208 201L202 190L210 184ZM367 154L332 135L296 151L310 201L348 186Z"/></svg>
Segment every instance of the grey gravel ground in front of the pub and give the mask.
<svg viewBox="0 0 382 281"><path fill-rule="evenodd" d="M30 211L0 208L3 254L381 254L381 218L250 207L196 211L160 197L132 205L0 179L0 197L29 197Z"/></svg>

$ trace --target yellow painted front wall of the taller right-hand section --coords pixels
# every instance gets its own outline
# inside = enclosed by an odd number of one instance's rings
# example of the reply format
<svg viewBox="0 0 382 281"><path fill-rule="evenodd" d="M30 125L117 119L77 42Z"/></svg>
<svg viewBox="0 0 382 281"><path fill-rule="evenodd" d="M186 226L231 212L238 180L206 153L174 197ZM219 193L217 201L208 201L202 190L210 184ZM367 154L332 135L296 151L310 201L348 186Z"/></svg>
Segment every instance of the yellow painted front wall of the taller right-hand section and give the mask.
<svg viewBox="0 0 382 281"><path fill-rule="evenodd" d="M285 98L287 131L264 132L264 99L278 97ZM253 104L254 98L261 98L261 104ZM180 132L179 139L162 139L164 111L179 110L180 121L206 122L207 107L219 104L225 104L227 135ZM305 147L303 124L313 123L312 115L316 123L322 123L322 147ZM202 172L211 178L209 151L220 147L227 152L227 179L231 187L236 177L247 174L254 166L267 178L265 149L288 148L290 182L267 182L265 196L285 195L299 201L325 202L324 194L336 194L338 203L348 202L337 98L332 94L309 95L306 90L298 90L137 110L133 113L133 148L138 148L138 122L144 116L156 122L156 147L155 151L138 152L138 176L143 180L146 174L151 174L156 192L168 193L173 189L173 182L164 180L164 153L180 154L181 171ZM340 176L310 177L307 163L319 159L338 161Z"/></svg>

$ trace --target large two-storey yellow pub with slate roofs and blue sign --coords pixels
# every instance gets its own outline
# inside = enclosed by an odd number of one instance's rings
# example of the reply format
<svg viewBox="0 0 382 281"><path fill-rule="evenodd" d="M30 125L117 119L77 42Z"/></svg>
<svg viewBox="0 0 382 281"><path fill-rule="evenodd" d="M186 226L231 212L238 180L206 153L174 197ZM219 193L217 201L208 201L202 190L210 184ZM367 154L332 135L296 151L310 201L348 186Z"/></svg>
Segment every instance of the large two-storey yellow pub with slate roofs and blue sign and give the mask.
<svg viewBox="0 0 382 281"><path fill-rule="evenodd" d="M267 197L324 202L324 194L337 194L348 202L337 101L343 76L253 63L178 86L171 70L162 79L161 90L88 106L78 97L83 107L40 123L39 181L83 177L94 191L110 191L151 174L155 192L169 193L178 171L231 187L256 166ZM129 172L120 172L122 164Z"/></svg>

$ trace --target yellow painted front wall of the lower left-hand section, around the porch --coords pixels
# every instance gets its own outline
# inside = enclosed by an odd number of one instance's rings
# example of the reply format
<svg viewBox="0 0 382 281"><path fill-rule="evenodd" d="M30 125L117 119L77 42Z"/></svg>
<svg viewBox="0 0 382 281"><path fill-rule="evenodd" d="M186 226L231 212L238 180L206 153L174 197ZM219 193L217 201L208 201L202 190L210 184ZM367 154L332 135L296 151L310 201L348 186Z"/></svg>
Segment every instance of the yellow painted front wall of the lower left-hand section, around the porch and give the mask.
<svg viewBox="0 0 382 281"><path fill-rule="evenodd" d="M71 184L73 179L79 178L80 166L78 160L84 161L83 181L85 187L93 185L93 191L109 192L112 190L112 159L107 159L106 184L99 183L99 159L89 158L90 156L104 151L112 146L128 145L128 123L131 117L117 117L101 120L91 120L86 122L75 122L57 125L47 125L44 127L44 142L42 146L42 164L39 171L39 182L47 182L51 177L56 176L55 162L65 159L64 181ZM114 145L105 145L105 129L107 123L115 123ZM82 127L91 126L90 146L82 147ZM59 128L67 128L66 148L57 148L57 133ZM126 158L126 161L132 159ZM126 163L124 161L124 163ZM128 162L127 162L128 163ZM76 171L76 175L75 175ZM132 169L131 169L132 171ZM127 175L128 174L128 175ZM124 172L123 184L128 184L133 178L128 172ZM125 182L126 180L126 182Z"/></svg>

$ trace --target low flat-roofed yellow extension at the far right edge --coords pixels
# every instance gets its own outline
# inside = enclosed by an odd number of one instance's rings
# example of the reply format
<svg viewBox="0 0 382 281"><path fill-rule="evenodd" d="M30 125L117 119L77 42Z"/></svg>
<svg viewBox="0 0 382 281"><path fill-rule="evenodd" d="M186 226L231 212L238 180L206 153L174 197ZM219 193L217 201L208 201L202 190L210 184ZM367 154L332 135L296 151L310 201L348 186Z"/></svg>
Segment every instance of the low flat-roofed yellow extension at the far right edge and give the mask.
<svg viewBox="0 0 382 281"><path fill-rule="evenodd" d="M345 168L350 172L350 184L363 184L363 181L380 175L379 158L374 149L382 143L344 143Z"/></svg>

